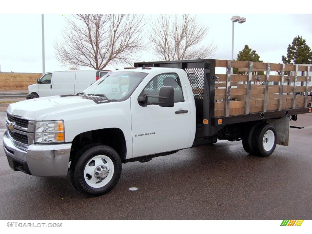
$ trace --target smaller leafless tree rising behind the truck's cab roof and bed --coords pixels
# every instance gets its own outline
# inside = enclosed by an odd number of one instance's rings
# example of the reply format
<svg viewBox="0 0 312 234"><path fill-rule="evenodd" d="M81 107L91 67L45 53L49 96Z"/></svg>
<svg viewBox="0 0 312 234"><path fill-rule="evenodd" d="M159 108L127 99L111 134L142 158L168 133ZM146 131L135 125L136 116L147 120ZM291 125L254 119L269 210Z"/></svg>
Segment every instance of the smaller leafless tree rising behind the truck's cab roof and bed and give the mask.
<svg viewBox="0 0 312 234"><path fill-rule="evenodd" d="M196 17L160 15L152 20L150 41L155 54L165 61L208 58L214 55L217 46L201 45L207 33L208 27L201 25Z"/></svg>

